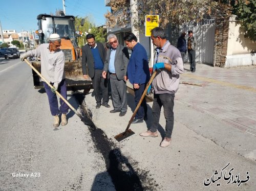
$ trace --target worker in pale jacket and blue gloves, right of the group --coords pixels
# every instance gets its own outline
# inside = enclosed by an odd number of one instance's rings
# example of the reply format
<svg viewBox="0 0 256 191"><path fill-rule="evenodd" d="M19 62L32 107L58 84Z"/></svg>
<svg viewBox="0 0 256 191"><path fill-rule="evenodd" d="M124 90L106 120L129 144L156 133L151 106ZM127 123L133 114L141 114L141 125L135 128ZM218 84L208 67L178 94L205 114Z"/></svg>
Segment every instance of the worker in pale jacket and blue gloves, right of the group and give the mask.
<svg viewBox="0 0 256 191"><path fill-rule="evenodd" d="M166 39L164 29L156 27L151 31L153 44L157 46L157 54L153 69L157 69L156 77L152 82L154 100L152 106L152 125L140 136L157 137L160 112L163 106L165 117L165 135L160 146L170 145L174 128L174 97L179 87L179 75L183 73L183 63L180 51Z"/></svg>

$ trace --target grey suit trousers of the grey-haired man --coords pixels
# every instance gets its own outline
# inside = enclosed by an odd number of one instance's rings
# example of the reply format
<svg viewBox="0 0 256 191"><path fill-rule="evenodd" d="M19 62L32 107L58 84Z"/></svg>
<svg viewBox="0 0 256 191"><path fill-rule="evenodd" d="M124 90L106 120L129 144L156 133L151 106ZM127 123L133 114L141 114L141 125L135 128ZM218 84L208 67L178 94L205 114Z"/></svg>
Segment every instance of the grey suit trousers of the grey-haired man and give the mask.
<svg viewBox="0 0 256 191"><path fill-rule="evenodd" d="M127 86L124 80L118 80L116 75L110 75L112 103L115 110L127 111Z"/></svg>

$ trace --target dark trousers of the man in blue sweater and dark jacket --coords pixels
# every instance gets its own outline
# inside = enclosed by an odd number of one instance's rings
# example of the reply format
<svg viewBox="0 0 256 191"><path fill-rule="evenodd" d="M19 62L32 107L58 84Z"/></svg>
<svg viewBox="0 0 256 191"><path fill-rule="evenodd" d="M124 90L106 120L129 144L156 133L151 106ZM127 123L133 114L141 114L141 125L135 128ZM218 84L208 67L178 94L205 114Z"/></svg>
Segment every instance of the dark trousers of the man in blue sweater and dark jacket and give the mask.
<svg viewBox="0 0 256 191"><path fill-rule="evenodd" d="M108 80L102 77L103 69L95 69L94 77L92 78L94 97L97 104L108 104L109 103L109 90Z"/></svg>

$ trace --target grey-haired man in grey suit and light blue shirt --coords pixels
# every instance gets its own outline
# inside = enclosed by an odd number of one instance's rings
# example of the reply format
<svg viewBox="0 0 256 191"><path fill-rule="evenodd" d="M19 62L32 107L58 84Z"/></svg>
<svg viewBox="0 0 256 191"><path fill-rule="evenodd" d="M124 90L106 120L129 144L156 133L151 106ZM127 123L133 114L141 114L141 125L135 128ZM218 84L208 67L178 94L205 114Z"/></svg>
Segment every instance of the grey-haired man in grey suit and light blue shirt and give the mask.
<svg viewBox="0 0 256 191"><path fill-rule="evenodd" d="M106 52L102 76L106 79L107 71L109 71L112 103L114 106L114 109L110 112L120 112L119 116L124 116L127 111L127 87L125 79L129 62L129 52L126 47L118 43L116 35L109 34L107 39L111 48Z"/></svg>

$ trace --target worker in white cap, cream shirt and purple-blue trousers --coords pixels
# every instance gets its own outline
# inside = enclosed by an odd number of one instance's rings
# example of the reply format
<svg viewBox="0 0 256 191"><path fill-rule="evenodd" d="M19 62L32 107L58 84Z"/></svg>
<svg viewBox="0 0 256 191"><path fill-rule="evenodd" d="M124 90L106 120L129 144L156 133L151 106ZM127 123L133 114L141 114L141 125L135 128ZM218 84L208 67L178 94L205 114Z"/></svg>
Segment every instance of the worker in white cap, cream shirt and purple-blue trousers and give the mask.
<svg viewBox="0 0 256 191"><path fill-rule="evenodd" d="M37 49L28 51L21 59L24 61L27 57L41 57L41 75L50 82L54 88L50 88L46 82L44 87L48 96L50 110L54 116L53 127L59 126L59 113L61 114L61 125L67 125L66 114L69 111L69 106L59 100L60 107L58 107L58 100L55 91L59 91L61 96L67 100L67 87L65 80L65 57L64 53L59 49L61 39L58 34L51 34L49 43L40 44Z"/></svg>

